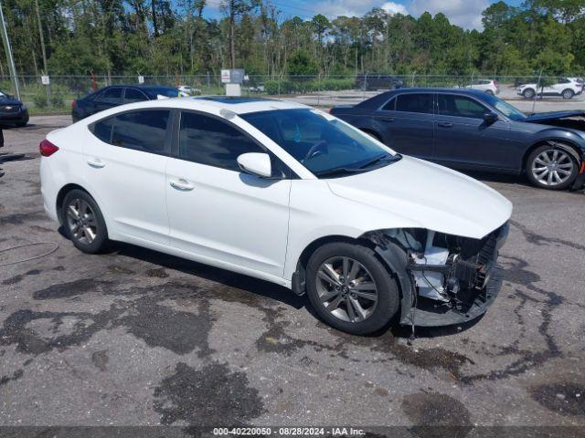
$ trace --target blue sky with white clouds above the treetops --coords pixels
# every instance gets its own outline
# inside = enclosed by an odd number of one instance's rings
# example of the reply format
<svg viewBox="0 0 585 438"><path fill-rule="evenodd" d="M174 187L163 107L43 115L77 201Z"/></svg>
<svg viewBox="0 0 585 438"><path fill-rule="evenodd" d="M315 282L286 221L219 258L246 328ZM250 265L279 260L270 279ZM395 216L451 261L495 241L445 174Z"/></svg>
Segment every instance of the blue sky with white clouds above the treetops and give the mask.
<svg viewBox="0 0 585 438"><path fill-rule="evenodd" d="M519 5L522 0L506 0L508 5ZM207 3L209 16L218 16L220 0L209 0ZM465 29L482 28L482 11L490 4L490 0L271 0L284 18L300 16L310 19L317 14L329 18L335 16L363 16L373 7L382 7L389 13L410 14L420 16L425 11L433 16L442 12L452 24Z"/></svg>

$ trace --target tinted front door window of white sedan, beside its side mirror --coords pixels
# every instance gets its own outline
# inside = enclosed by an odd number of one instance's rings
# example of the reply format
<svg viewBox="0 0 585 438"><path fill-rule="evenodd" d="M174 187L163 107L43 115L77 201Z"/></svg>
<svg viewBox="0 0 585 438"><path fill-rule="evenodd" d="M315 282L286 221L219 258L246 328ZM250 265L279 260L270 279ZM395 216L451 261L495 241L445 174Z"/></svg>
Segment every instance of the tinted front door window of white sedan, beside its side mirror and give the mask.
<svg viewBox="0 0 585 438"><path fill-rule="evenodd" d="M240 172L238 157L246 152L264 151L223 120L194 112L181 113L179 158Z"/></svg>

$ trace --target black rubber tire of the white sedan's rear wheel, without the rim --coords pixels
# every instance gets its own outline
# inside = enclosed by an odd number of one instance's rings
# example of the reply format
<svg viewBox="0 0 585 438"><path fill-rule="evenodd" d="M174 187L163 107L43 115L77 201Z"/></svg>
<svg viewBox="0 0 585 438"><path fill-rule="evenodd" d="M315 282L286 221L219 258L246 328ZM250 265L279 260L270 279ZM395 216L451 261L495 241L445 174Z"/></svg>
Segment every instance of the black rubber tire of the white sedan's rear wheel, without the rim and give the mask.
<svg viewBox="0 0 585 438"><path fill-rule="evenodd" d="M89 210L85 209L83 205L87 205ZM85 219L87 221L84 224L78 223L77 230L79 231L77 232L72 225L76 219L72 214L68 214L69 207L77 209L78 217L80 218L78 220ZM91 221L89 217L92 218ZM98 254L108 248L108 229L103 220L100 207L90 196L90 193L74 189L65 195L61 205L61 223L73 245L80 251L88 254ZM82 231L87 228L90 228L89 233ZM91 233L94 235L92 239L88 237Z"/></svg>

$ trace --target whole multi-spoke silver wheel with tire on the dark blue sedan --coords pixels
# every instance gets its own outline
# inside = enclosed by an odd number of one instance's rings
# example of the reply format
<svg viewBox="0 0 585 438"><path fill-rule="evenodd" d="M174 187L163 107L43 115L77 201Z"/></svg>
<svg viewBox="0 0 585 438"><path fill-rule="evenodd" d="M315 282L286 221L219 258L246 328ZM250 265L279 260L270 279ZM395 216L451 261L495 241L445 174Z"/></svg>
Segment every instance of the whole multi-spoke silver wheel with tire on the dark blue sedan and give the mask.
<svg viewBox="0 0 585 438"><path fill-rule="evenodd" d="M527 177L537 187L561 190L569 187L579 173L577 162L568 151L545 145L527 160Z"/></svg>

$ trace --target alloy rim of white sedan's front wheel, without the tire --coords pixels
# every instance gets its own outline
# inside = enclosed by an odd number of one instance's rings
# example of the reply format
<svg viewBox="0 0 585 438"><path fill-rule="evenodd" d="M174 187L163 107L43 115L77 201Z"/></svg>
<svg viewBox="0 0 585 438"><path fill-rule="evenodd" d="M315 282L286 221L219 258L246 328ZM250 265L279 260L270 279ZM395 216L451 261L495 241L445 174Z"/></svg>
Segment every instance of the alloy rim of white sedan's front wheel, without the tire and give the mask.
<svg viewBox="0 0 585 438"><path fill-rule="evenodd" d="M325 310L346 322L369 318L378 304L378 287L366 267L350 257L325 260L317 272L317 294Z"/></svg>

